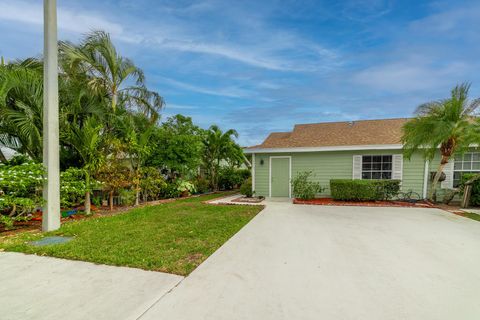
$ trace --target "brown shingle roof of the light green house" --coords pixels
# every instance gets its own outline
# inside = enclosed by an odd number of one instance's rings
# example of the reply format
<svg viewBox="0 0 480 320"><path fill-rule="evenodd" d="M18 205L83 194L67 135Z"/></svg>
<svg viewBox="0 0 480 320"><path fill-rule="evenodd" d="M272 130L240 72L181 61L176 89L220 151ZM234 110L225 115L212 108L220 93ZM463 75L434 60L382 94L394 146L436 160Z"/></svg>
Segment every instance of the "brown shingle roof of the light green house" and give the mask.
<svg viewBox="0 0 480 320"><path fill-rule="evenodd" d="M292 132L273 132L251 148L301 148L400 144L408 118L297 124Z"/></svg>

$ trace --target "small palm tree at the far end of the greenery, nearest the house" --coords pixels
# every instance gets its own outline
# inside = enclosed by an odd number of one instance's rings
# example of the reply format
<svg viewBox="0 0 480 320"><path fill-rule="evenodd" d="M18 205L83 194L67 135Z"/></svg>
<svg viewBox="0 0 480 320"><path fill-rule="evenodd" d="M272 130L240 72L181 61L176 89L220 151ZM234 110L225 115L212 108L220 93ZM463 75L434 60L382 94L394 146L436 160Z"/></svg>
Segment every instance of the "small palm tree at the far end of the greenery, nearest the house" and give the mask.
<svg viewBox="0 0 480 320"><path fill-rule="evenodd" d="M222 132L217 125L212 125L203 139L204 163L210 174L210 183L214 191L218 190L218 169L222 160L228 161L238 155L238 148L233 138L238 138L237 131L230 129Z"/></svg>

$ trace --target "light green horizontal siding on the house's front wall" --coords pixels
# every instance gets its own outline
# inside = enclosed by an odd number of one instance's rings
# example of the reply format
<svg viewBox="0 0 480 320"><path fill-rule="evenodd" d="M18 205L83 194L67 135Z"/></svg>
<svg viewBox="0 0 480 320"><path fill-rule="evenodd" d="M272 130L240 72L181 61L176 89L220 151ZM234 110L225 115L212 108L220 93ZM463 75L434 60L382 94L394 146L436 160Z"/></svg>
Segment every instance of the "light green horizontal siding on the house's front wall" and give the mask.
<svg viewBox="0 0 480 320"><path fill-rule="evenodd" d="M298 172L312 171L312 179L320 182L325 191L319 196L330 194L330 179L351 179L354 155L394 155L401 150L362 150L362 151L321 151L298 153L256 153L255 154L255 194L269 196L269 162L271 156L291 156L292 178ZM262 164L263 162L263 164ZM425 161L420 154L410 160L403 159L402 189L423 193Z"/></svg>

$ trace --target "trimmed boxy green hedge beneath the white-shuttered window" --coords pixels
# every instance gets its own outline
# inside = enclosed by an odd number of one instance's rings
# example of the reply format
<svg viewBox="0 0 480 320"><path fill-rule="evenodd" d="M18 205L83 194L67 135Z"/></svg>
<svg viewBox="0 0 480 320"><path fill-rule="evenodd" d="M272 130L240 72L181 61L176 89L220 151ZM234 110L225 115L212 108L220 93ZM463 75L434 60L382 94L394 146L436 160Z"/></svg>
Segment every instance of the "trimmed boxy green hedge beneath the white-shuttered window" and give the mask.
<svg viewBox="0 0 480 320"><path fill-rule="evenodd" d="M330 194L334 200L388 200L399 191L400 180L330 180Z"/></svg>

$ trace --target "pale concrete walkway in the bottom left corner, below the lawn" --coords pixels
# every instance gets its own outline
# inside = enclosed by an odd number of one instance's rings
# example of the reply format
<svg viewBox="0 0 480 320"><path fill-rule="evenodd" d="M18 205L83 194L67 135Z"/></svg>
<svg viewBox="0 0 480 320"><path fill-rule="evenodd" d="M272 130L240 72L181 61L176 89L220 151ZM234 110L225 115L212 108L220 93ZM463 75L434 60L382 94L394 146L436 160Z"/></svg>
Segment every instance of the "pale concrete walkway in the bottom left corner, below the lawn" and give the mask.
<svg viewBox="0 0 480 320"><path fill-rule="evenodd" d="M0 253L0 319L138 319L183 277Z"/></svg>

